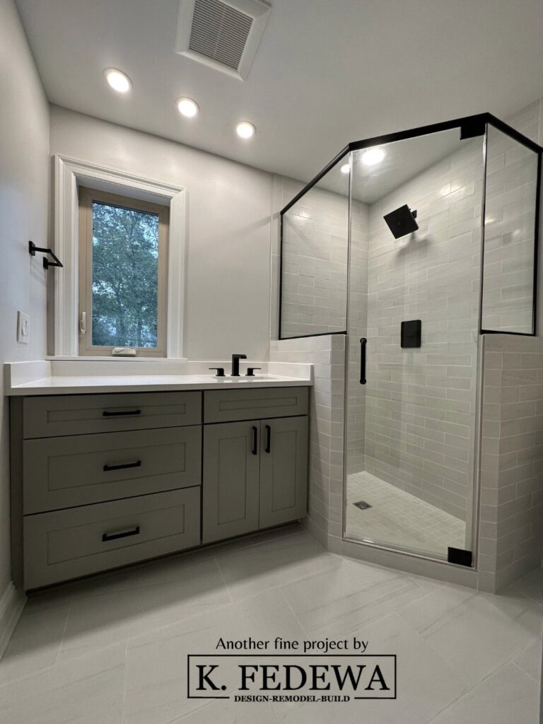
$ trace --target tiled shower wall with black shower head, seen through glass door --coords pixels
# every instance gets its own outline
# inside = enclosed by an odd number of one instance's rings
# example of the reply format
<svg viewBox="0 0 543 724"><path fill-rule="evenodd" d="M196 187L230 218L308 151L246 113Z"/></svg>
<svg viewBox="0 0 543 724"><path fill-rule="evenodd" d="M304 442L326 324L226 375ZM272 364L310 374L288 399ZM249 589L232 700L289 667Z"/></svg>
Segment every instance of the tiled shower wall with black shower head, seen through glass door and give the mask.
<svg viewBox="0 0 543 724"><path fill-rule="evenodd" d="M464 142L369 210L364 468L466 521L479 332L482 142ZM408 203L419 230L383 216ZM400 346L420 319L421 348Z"/></svg>

